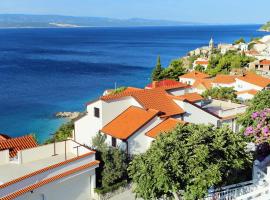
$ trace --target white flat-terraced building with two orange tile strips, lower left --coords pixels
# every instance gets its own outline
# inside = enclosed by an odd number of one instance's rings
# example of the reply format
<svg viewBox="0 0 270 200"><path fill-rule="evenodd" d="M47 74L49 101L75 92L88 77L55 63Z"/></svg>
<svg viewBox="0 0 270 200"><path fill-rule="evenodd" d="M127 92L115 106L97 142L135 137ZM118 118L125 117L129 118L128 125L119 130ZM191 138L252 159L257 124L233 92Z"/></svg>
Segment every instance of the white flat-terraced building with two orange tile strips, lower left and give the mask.
<svg viewBox="0 0 270 200"><path fill-rule="evenodd" d="M25 140L14 143L14 139L0 142L8 147L0 151L1 200L95 198L99 162L94 151L67 140L19 150L14 156L14 148L26 144Z"/></svg>

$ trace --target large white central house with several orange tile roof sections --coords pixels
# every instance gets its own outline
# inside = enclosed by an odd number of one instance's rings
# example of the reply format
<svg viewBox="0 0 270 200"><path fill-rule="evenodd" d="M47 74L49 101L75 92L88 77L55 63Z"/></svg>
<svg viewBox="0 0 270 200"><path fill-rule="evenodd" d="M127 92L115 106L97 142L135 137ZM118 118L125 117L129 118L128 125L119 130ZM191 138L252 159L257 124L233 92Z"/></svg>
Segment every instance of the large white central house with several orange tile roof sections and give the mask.
<svg viewBox="0 0 270 200"><path fill-rule="evenodd" d="M75 121L74 140L91 146L91 139L102 133L109 146L138 154L149 148L154 135L168 132L166 127L174 127L176 122L221 126L224 118L230 116L226 118L229 121L236 118L232 116L236 109L219 115L204 108L204 98L198 93L173 95L168 87L149 85L148 89L126 89L89 102L86 115Z"/></svg>

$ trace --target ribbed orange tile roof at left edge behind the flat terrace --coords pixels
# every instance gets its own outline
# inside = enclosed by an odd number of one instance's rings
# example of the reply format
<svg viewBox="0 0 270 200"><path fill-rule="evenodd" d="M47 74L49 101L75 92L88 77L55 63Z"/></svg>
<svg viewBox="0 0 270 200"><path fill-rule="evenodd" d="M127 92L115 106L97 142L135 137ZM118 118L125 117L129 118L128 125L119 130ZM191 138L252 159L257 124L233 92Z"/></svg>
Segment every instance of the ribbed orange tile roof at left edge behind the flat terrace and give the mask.
<svg viewBox="0 0 270 200"><path fill-rule="evenodd" d="M36 146L38 146L38 144L31 135L0 141L0 151L9 149L11 158L15 157L20 150L30 149Z"/></svg>

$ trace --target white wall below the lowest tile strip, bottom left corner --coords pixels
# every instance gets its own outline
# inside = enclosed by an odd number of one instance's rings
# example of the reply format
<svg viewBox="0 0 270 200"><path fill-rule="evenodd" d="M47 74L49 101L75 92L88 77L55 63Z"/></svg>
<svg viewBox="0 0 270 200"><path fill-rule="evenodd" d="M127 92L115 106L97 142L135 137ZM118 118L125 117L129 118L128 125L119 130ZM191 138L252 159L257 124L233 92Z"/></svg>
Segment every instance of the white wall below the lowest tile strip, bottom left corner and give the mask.
<svg viewBox="0 0 270 200"><path fill-rule="evenodd" d="M84 170L69 177L44 185L16 200L87 200L94 196L94 170Z"/></svg>

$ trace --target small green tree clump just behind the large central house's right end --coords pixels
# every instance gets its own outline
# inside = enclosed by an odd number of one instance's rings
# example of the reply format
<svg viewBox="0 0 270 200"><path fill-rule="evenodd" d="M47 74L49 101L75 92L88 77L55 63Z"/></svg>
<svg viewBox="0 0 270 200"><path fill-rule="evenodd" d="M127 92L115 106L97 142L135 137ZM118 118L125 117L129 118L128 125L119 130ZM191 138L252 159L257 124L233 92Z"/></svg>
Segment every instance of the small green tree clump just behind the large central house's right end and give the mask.
<svg viewBox="0 0 270 200"><path fill-rule="evenodd" d="M237 95L233 87L213 87L202 93L204 98L212 97L219 100L231 100L232 102L238 102Z"/></svg>

